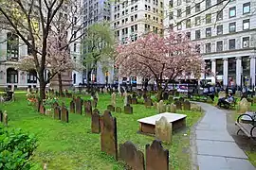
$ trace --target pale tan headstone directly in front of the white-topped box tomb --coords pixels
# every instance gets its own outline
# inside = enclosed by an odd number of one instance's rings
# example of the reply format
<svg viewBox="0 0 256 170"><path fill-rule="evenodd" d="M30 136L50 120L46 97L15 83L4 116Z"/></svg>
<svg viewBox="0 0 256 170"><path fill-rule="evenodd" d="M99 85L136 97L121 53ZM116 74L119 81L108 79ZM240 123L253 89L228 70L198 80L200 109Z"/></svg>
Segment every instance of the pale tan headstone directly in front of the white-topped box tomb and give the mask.
<svg viewBox="0 0 256 170"><path fill-rule="evenodd" d="M172 123L163 116L155 121L155 138L168 144L172 143Z"/></svg>

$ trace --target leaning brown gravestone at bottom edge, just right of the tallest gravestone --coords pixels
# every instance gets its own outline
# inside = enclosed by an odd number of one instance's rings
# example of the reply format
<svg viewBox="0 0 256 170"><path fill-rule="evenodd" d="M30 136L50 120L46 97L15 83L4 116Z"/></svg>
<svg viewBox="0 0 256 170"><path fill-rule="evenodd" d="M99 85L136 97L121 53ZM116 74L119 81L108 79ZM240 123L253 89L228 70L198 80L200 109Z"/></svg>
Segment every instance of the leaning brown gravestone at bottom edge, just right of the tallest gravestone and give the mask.
<svg viewBox="0 0 256 170"><path fill-rule="evenodd" d="M130 141L119 144L119 158L134 170L145 170L143 152L137 150L135 144Z"/></svg>

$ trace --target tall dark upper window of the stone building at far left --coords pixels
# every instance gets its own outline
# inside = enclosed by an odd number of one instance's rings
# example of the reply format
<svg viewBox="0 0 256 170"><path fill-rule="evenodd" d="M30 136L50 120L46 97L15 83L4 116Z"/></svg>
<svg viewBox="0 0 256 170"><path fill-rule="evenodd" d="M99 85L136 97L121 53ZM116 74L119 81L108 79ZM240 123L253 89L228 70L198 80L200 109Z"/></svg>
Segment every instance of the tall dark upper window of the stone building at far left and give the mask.
<svg viewBox="0 0 256 170"><path fill-rule="evenodd" d="M7 33L7 58L18 59L19 56L19 37L12 33Z"/></svg>

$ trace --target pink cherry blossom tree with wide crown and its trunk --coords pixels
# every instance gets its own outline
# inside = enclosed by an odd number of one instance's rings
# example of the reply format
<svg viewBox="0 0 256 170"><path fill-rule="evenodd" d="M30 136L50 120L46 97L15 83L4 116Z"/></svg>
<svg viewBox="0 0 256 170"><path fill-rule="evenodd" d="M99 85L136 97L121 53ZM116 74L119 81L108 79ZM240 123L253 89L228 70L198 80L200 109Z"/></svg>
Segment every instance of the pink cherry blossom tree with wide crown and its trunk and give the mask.
<svg viewBox="0 0 256 170"><path fill-rule="evenodd" d="M136 42L119 45L116 51L119 76L154 78L158 100L168 83L180 77L200 77L204 68L195 44L185 34L173 31L167 37L147 34Z"/></svg>

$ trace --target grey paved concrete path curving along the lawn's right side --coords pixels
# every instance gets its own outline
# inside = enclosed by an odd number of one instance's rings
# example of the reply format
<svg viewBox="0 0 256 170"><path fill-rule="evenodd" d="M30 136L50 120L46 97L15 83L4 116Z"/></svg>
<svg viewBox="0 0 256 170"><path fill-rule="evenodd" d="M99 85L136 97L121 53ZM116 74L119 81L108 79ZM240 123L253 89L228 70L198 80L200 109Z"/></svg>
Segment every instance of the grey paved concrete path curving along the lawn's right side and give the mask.
<svg viewBox="0 0 256 170"><path fill-rule="evenodd" d="M227 130L224 110L198 103L205 116L195 127L193 156L199 170L255 170Z"/></svg>

